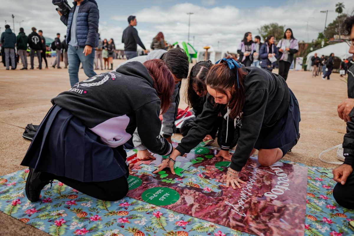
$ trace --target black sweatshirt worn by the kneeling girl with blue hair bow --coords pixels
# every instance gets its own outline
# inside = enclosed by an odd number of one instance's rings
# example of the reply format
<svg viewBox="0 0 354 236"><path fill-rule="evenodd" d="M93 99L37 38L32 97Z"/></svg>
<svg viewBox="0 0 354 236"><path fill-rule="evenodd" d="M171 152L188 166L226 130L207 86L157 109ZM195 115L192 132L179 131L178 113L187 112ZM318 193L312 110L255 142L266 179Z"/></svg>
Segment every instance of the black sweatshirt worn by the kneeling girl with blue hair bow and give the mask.
<svg viewBox="0 0 354 236"><path fill-rule="evenodd" d="M241 119L236 119L236 126L241 126L240 136L230 165L235 171L245 166L261 129L271 127L280 120L289 109L290 101L289 88L281 76L257 67L247 67L245 70L248 73L244 80L245 104ZM210 98L196 118L194 127L177 146L181 154L189 152L205 137L219 112L225 116L226 105L215 107L214 100ZM229 117L229 120L232 118Z"/></svg>

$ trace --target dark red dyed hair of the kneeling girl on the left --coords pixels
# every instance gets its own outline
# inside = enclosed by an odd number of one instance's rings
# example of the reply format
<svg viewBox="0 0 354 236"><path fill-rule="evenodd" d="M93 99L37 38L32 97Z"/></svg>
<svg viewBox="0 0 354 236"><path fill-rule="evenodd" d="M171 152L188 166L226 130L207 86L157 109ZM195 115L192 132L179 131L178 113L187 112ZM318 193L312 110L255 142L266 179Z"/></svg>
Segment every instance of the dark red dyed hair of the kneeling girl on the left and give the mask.
<svg viewBox="0 0 354 236"><path fill-rule="evenodd" d="M152 59L143 63L154 81L154 88L161 100L161 114L171 105L171 96L175 90L175 80L166 63L161 59Z"/></svg>

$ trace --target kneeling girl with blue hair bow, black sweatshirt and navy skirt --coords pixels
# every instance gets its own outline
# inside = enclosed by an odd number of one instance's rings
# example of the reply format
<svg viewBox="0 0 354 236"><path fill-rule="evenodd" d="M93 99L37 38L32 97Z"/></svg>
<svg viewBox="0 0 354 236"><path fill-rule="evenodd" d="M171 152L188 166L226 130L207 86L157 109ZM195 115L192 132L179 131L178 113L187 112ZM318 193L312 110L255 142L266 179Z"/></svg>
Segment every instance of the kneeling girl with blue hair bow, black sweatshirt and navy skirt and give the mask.
<svg viewBox="0 0 354 236"><path fill-rule="evenodd" d="M280 75L258 67L241 67L228 56L210 68L206 88L209 97L202 113L154 173L166 167L174 173L177 156L192 150L205 137L219 113L226 120L234 120L234 127L240 127L226 176L227 187L241 188L240 183L245 183L239 179L239 172L256 150L258 162L270 166L296 145L300 137L299 105Z"/></svg>

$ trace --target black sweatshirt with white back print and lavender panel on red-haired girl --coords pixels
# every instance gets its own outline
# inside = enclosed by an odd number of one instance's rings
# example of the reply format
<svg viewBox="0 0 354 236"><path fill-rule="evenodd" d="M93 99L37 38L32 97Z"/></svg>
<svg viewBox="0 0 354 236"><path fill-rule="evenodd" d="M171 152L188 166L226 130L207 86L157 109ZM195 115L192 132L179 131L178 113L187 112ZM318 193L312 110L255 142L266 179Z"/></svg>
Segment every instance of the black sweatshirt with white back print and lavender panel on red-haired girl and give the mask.
<svg viewBox="0 0 354 236"><path fill-rule="evenodd" d="M138 128L143 145L150 151L160 155L172 152L172 145L160 135L161 101L140 62L129 62L116 71L81 81L53 98L52 103L69 110L108 146L124 144Z"/></svg>

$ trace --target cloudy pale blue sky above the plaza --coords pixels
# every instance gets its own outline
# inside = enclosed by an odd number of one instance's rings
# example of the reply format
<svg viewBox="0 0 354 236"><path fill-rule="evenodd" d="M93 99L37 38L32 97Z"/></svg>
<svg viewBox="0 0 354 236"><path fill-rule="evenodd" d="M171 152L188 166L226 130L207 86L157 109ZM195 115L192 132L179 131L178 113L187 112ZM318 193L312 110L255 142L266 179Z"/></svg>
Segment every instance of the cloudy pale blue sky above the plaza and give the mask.
<svg viewBox="0 0 354 236"><path fill-rule="evenodd" d="M198 50L212 45L223 50L238 46L245 32L258 34L263 24L278 23L293 30L298 40L311 41L324 30L325 13L327 24L337 16L334 12L336 0L96 0L99 9L99 33L101 38L113 38L117 48L122 47L122 31L127 27L127 17L137 17L137 30L145 47L149 48L154 36L162 31L169 43L187 41L188 15L190 17L190 43ZM353 14L354 1L341 0L344 12ZM69 4L72 6L71 1ZM50 0L1 0L0 30L5 21L11 25L15 16L15 33L19 22L30 33L33 26L43 30L44 36L54 38L56 33L66 34L66 27L60 21L55 6ZM308 22L308 27L307 27ZM308 30L307 30L308 28ZM193 39L194 37L194 39ZM219 42L219 43L218 43Z"/></svg>

